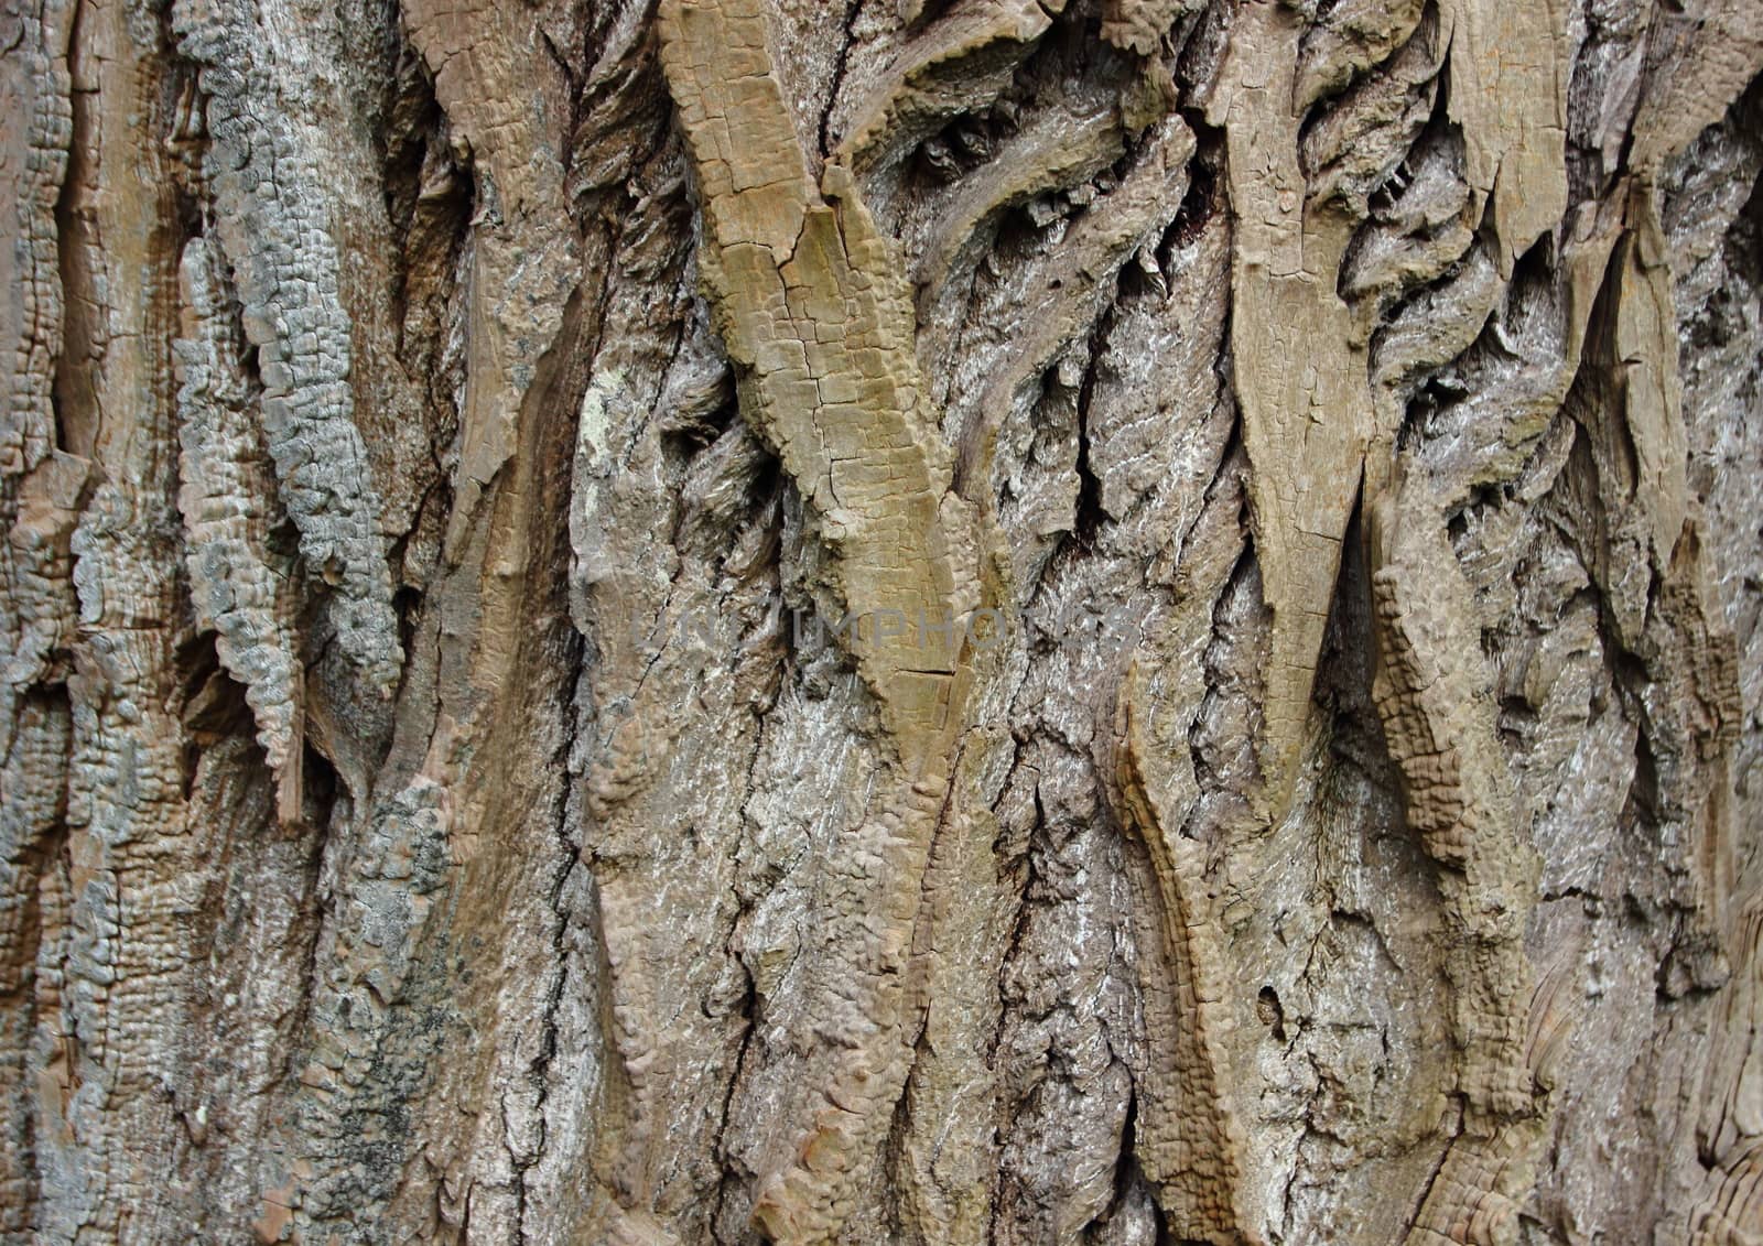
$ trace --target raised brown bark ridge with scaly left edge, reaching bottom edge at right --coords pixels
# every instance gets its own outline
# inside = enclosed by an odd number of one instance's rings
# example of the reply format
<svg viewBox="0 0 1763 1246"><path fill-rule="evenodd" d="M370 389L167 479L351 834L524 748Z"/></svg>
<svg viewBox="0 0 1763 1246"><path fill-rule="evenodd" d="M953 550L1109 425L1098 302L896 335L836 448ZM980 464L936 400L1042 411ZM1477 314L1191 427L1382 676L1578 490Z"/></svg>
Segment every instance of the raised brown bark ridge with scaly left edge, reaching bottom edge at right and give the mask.
<svg viewBox="0 0 1763 1246"><path fill-rule="evenodd" d="M1425 478L1402 472L1368 523L1377 567L1372 700L1402 770L1407 823L1439 865L1463 1103L1462 1133L1409 1234L1416 1246L1514 1237L1543 1142L1527 1059L1525 955L1539 862L1518 832L1493 733L1491 675L1476 661L1474 604L1442 518Z"/></svg>

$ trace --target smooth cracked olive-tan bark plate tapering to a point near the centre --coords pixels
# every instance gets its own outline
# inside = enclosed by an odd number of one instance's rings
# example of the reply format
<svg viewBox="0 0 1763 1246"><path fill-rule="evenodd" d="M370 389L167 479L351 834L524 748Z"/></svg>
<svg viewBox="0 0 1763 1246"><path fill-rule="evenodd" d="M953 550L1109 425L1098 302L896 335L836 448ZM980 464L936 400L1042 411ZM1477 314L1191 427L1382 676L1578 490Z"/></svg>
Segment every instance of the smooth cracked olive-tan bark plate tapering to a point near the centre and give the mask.
<svg viewBox="0 0 1763 1246"><path fill-rule="evenodd" d="M698 169L700 264L748 421L823 516L850 615L966 619L978 606L973 520L950 495L911 296L887 241L843 164L811 180L756 2L673 4L659 21ZM959 721L957 640L919 654L882 631L853 636L859 668L906 779L941 788Z"/></svg>

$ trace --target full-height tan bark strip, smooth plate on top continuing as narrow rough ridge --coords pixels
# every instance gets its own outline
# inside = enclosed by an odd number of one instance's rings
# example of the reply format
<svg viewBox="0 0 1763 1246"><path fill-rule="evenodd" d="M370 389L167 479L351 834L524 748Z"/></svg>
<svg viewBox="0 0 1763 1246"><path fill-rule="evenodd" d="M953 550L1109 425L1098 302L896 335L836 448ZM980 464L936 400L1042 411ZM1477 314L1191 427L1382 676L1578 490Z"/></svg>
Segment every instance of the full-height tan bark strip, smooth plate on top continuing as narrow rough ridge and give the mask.
<svg viewBox="0 0 1763 1246"><path fill-rule="evenodd" d="M818 511L850 615L966 619L980 606L977 522L950 488L890 247L844 164L829 162L820 185L809 176L758 0L670 0L659 25L698 173L698 263L744 418ZM961 634L850 636L892 758L882 812L859 832L873 869L834 897L852 945L839 950L850 978L827 983L823 1103L753 1213L777 1241L839 1234L906 1084L913 923L971 680Z"/></svg>

